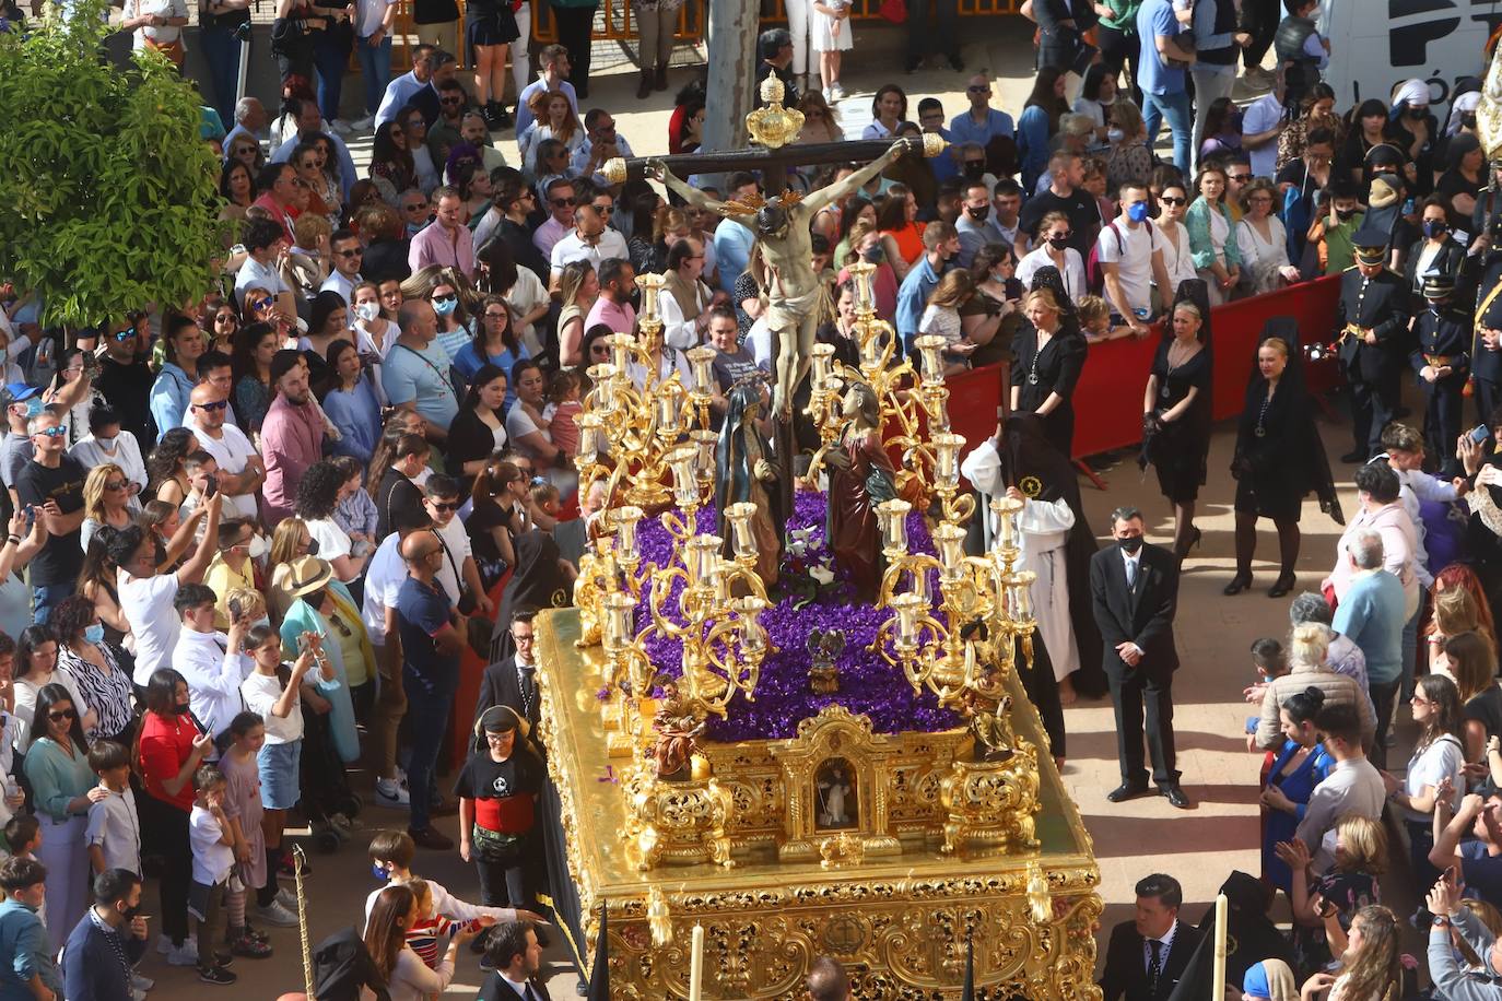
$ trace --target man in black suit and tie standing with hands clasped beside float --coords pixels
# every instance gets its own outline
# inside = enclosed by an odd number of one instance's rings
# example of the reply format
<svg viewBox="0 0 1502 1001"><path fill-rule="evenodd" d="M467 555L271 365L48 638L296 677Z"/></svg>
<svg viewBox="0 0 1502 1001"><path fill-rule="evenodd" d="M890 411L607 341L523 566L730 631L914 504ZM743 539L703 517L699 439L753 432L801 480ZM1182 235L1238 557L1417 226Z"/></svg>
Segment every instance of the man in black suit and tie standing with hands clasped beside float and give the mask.
<svg viewBox="0 0 1502 1001"><path fill-rule="evenodd" d="M1104 669L1116 707L1116 759L1122 783L1105 798L1111 803L1148 792L1142 735L1146 710L1152 780L1169 803L1188 809L1173 767L1173 612L1179 600L1179 561L1172 552L1143 542L1142 512L1111 512L1108 546L1090 558L1090 603L1104 641Z"/></svg>

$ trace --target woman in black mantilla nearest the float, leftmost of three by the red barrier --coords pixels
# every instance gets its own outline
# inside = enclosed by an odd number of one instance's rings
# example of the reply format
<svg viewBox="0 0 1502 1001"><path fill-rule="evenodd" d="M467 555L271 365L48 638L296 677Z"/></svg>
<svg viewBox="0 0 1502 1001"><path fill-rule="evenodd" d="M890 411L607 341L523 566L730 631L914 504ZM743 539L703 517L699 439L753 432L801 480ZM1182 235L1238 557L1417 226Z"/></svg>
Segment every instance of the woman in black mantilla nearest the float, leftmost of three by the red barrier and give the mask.
<svg viewBox="0 0 1502 1001"><path fill-rule="evenodd" d="M1056 267L1033 275L1026 321L1012 338L1012 410L1038 414L1053 447L1074 458L1074 386L1084 368L1084 335Z"/></svg>

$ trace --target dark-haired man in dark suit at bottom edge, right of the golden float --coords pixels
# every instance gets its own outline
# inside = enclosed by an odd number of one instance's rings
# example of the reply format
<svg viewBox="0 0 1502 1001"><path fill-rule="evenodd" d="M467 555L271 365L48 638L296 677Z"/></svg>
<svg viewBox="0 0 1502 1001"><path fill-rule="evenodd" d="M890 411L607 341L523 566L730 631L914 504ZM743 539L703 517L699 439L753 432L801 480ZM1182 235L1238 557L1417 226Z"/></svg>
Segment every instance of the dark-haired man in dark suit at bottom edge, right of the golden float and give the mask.
<svg viewBox="0 0 1502 1001"><path fill-rule="evenodd" d="M1161 872L1137 884L1137 915L1111 929L1101 972L1102 1001L1166 1001L1203 932L1179 921L1184 890Z"/></svg>

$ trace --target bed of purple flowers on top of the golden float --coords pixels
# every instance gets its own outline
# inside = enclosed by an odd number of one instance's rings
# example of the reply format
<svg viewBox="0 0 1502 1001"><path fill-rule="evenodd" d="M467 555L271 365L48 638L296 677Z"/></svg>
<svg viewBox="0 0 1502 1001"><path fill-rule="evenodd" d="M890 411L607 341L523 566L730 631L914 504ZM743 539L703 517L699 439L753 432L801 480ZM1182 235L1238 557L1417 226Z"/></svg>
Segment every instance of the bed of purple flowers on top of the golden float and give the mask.
<svg viewBox="0 0 1502 1001"><path fill-rule="evenodd" d="M718 513L712 506L700 509L701 531L712 531L716 518ZM832 557L825 545L823 494L798 492L787 527L789 533L801 531L805 539L802 552L786 560L795 575L832 566ZM919 512L907 516L907 539L912 552L933 552L928 525ZM671 563L673 536L659 519L641 521L637 528L637 545L643 564L665 567ZM793 737L801 720L817 716L832 704L844 705L852 713L865 713L876 731L883 734L934 732L963 725L957 713L939 708L928 690L913 695L900 669L889 666L879 653L867 650L891 612L856 602L838 569L835 572L835 582L819 588L813 600L807 590L784 594L783 590L774 588L769 594L774 603L762 614L762 624L777 653L768 654L762 662L756 701L736 696L730 704L728 719L710 717L707 731L710 740L731 743ZM682 581L674 581L662 605L664 614L673 621L682 621L677 614L682 587ZM643 588L641 603L637 606L637 629L652 621L649 593L650 581ZM835 657L840 690L831 695L814 695L808 687L807 642L814 629L838 629L846 633L844 650ZM646 651L658 671L674 677L682 674L683 648L679 641L653 635L646 641Z"/></svg>

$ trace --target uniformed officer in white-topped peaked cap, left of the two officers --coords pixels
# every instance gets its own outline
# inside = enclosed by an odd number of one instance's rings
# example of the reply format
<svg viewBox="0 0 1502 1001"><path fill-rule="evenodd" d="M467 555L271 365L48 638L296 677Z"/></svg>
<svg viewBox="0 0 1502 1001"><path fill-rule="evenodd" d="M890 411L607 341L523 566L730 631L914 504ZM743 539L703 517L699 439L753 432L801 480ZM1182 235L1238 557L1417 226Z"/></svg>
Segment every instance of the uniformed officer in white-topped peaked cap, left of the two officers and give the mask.
<svg viewBox="0 0 1502 1001"><path fill-rule="evenodd" d="M1409 356L1409 297L1403 279L1382 267L1388 255L1386 233L1362 225L1352 245L1356 264L1341 275L1335 309L1355 429L1355 449L1341 461L1365 462L1382 452L1382 429L1398 405ZM1362 267L1370 273L1362 273Z"/></svg>

